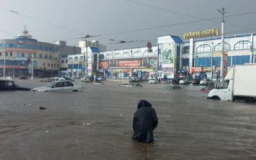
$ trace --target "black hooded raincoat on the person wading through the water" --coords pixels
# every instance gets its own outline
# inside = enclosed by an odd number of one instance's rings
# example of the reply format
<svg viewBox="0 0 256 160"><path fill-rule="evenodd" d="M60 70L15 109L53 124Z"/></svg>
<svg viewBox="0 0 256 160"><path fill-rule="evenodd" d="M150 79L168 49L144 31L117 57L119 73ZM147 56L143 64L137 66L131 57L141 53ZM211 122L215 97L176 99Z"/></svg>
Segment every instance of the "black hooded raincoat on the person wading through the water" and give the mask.
<svg viewBox="0 0 256 160"><path fill-rule="evenodd" d="M138 110L134 113L132 140L153 142L153 131L158 124L156 111L147 100L140 100Z"/></svg>

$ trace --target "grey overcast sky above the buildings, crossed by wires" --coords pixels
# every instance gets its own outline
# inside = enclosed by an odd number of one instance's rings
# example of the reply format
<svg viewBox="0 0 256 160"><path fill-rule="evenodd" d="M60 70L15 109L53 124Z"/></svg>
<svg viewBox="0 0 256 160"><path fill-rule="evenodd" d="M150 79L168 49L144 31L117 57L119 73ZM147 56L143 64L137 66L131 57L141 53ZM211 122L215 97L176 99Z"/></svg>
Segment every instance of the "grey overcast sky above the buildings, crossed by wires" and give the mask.
<svg viewBox="0 0 256 160"><path fill-rule="evenodd" d="M179 24L193 20L193 17L180 15L179 12L194 17L210 19L221 17L217 8L225 7L226 15L255 12L255 0L133 0L131 3L125 0L1 0L0 6L0 38L13 38L22 32L24 25L28 26L29 34L41 42L54 42L54 40L67 40L68 45L78 45L77 40L69 40L84 35L104 35L119 33L143 28L154 28L170 24ZM8 10L22 13L19 15ZM167 12L169 10L172 12ZM29 17L26 17L28 15ZM256 13L227 17L225 31L228 35L239 33L252 33L256 31ZM58 28L42 22L45 20L52 24L58 24ZM212 28L221 29L221 19L194 22L165 28L147 29L116 35L99 36L88 40L99 40L101 44L107 44L107 50L125 49L129 47L146 47L147 42L112 44L110 40L151 40L157 44L157 36L176 35L182 37L189 31L204 31ZM230 25L232 24L232 25ZM74 31L71 31L74 30ZM241 31L241 32L238 32ZM4 33L6 32L6 33ZM77 33L78 32L78 33ZM7 34L9 33L9 34ZM82 34L84 33L84 34ZM107 38L107 39L105 39ZM112 43L116 43L113 42Z"/></svg>

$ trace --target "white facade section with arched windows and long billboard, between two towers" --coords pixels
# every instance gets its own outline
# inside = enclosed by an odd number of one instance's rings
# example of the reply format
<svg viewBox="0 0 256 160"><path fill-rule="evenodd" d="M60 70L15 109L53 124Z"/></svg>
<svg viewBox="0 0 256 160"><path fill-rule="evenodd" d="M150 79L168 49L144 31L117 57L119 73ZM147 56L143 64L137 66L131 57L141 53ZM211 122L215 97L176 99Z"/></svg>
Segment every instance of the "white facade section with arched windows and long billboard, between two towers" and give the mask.
<svg viewBox="0 0 256 160"><path fill-rule="evenodd" d="M100 52L99 70L108 78L156 76L157 47Z"/></svg>

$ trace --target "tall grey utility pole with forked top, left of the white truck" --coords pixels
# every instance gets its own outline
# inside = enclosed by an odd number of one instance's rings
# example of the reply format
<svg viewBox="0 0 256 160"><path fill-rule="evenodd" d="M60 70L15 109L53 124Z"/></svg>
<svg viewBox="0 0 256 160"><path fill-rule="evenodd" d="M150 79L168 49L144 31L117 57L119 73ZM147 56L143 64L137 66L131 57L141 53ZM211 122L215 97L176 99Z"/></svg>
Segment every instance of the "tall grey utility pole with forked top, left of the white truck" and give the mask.
<svg viewBox="0 0 256 160"><path fill-rule="evenodd" d="M224 79L224 15L225 13L225 8L222 8L221 10L218 9L218 12L221 13L222 15L222 22L221 22L221 60L220 60L220 80L223 81Z"/></svg>

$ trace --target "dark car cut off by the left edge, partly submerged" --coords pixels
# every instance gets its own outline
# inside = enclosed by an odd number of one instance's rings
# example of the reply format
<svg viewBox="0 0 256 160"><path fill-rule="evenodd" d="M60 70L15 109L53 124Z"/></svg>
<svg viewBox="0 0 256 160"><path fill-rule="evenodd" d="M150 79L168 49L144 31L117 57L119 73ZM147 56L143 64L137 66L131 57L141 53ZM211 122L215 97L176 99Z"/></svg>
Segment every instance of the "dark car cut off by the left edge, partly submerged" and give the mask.
<svg viewBox="0 0 256 160"><path fill-rule="evenodd" d="M29 91L31 88L19 86L12 80L0 80L0 90L24 90Z"/></svg>

